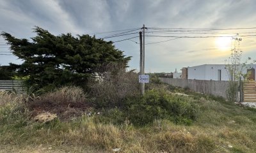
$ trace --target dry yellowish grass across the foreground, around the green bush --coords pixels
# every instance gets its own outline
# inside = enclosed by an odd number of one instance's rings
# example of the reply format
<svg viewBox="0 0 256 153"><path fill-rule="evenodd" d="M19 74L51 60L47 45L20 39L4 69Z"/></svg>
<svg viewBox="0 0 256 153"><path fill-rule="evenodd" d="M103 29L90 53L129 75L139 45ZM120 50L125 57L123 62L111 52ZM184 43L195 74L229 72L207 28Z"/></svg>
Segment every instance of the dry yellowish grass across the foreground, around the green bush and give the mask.
<svg viewBox="0 0 256 153"><path fill-rule="evenodd" d="M256 110L207 98L196 101L201 114L191 126L155 120L151 126L136 128L128 120L116 126L87 115L39 123L28 120L19 103L11 105L22 98L0 95L0 152L113 152L115 148L120 152L256 152ZM49 96L48 100L65 99L65 92Z"/></svg>

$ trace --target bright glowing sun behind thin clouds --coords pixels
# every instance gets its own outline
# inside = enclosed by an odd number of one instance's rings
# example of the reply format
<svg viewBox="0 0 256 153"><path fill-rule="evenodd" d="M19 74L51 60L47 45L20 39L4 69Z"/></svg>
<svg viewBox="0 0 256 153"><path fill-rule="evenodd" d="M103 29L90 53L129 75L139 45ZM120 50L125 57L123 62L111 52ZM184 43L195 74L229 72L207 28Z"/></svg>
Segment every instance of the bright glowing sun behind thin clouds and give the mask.
<svg viewBox="0 0 256 153"><path fill-rule="evenodd" d="M220 51L228 51L231 47L232 39L230 37L218 37L215 40L216 47Z"/></svg>

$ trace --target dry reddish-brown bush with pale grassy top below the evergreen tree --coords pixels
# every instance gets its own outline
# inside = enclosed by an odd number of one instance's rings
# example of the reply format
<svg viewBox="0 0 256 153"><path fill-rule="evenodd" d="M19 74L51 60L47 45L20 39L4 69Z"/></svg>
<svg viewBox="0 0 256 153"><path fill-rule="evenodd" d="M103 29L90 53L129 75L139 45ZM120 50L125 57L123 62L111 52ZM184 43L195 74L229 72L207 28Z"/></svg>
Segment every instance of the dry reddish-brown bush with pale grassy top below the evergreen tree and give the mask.
<svg viewBox="0 0 256 153"><path fill-rule="evenodd" d="M86 94L79 87L62 87L53 92L43 94L28 102L30 110L35 114L41 112L57 113L60 119L69 119L72 116L81 115L88 103Z"/></svg>

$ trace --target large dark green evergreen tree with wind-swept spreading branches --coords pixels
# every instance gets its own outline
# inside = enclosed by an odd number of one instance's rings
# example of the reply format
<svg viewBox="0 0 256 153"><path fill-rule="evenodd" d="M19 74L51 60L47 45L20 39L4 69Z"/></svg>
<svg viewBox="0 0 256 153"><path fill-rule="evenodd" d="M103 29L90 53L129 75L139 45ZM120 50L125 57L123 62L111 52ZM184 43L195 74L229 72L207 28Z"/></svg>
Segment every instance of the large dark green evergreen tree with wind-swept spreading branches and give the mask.
<svg viewBox="0 0 256 153"><path fill-rule="evenodd" d="M35 27L36 36L30 42L9 33L1 35L8 41L13 54L24 62L17 68L18 74L29 75L29 84L44 87L48 84L83 84L102 64L119 62L127 66L131 57L125 57L111 41L96 39L84 34L54 36L49 31Z"/></svg>

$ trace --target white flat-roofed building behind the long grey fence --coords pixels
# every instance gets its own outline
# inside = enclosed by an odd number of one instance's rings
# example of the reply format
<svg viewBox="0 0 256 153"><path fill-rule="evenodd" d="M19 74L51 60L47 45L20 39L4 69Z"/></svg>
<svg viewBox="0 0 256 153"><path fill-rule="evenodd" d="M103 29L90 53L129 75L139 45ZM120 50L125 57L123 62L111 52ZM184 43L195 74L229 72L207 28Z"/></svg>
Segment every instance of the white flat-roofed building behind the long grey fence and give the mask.
<svg viewBox="0 0 256 153"><path fill-rule="evenodd" d="M253 68L253 69L252 69ZM243 68L242 73L252 70L250 79L255 80L256 65L253 64L249 68ZM195 80L230 80L230 74L225 64L204 64L200 66L188 67L188 79ZM241 78L243 80L243 78Z"/></svg>

